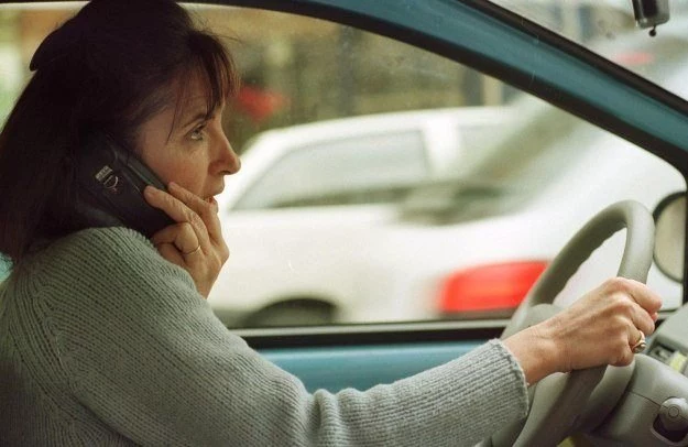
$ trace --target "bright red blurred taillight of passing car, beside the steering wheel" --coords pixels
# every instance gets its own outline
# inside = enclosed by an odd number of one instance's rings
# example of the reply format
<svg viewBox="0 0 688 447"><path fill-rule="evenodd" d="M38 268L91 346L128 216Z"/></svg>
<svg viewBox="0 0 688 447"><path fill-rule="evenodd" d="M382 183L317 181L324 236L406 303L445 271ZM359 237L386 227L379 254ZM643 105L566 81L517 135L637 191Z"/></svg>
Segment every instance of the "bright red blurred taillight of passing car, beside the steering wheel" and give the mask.
<svg viewBox="0 0 688 447"><path fill-rule="evenodd" d="M521 304L545 261L505 262L462 270L449 276L440 291L443 313L496 310Z"/></svg>

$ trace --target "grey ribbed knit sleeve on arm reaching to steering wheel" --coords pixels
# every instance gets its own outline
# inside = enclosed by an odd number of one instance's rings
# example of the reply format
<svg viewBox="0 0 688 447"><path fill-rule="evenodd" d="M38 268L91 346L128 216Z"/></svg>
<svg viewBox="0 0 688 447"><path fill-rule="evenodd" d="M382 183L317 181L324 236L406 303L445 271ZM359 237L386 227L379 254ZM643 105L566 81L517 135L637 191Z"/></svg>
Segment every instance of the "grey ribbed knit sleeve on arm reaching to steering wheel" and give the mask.
<svg viewBox="0 0 688 447"><path fill-rule="evenodd" d="M77 399L142 445L472 445L525 416L498 340L368 391L309 394L232 335L190 276L131 230L53 247L51 324Z"/></svg>

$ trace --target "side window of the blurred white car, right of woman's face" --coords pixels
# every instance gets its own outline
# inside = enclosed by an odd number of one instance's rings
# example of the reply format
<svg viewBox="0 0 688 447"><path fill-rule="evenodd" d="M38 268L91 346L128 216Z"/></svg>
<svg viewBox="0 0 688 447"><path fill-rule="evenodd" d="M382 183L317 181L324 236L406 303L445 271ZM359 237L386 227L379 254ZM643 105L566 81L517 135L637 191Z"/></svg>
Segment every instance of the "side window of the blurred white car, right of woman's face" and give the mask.
<svg viewBox="0 0 688 447"><path fill-rule="evenodd" d="M419 132L342 137L288 148L236 209L395 201L428 174Z"/></svg>

